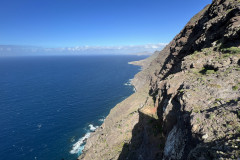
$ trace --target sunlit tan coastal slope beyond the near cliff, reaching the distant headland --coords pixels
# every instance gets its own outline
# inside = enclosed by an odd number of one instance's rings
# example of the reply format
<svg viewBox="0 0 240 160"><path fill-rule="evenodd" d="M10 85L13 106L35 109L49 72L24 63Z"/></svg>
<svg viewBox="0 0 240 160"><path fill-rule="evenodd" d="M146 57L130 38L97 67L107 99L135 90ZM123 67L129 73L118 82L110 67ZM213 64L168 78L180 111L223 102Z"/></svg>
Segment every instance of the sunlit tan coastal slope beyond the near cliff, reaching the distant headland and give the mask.
<svg viewBox="0 0 240 160"><path fill-rule="evenodd" d="M150 57L139 61L128 62L130 65L140 66L141 70L131 80L135 93L114 106L105 121L93 132L86 141L83 153L78 160L96 159L121 159L124 156L124 148L135 138L135 128L142 130L144 124L157 120L157 111L154 108L154 101L149 95L151 81L157 79L155 71L164 64L169 52L169 45L162 51L155 51ZM159 57L161 56L161 59ZM153 64L159 63L159 66ZM146 125L147 126L147 125ZM152 126L154 127L154 126ZM150 129L151 130L151 129ZM120 134L119 134L120 133ZM159 146L159 136L152 138L152 145ZM139 140L141 141L141 140ZM135 142L134 142L135 143ZM149 146L151 147L151 146ZM123 151L123 153L121 153ZM154 150L153 152L158 152ZM141 153L139 153L141 154Z"/></svg>

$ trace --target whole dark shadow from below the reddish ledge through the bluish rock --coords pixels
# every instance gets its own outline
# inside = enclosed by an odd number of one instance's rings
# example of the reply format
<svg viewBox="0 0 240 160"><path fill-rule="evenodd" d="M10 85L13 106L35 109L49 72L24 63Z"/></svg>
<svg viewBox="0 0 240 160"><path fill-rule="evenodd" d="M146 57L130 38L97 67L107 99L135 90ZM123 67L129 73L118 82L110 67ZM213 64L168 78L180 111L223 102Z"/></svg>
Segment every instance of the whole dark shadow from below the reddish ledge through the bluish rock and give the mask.
<svg viewBox="0 0 240 160"><path fill-rule="evenodd" d="M139 122L132 130L132 139L129 143L124 144L118 160L174 159L171 155L177 155L180 152L182 157L186 158L190 150L201 142L199 140L201 135L191 132L190 113L181 110L178 96L172 98L172 108L165 117L163 116L171 96L165 93L163 97L163 100L159 101L157 109L159 119L139 111ZM177 128L175 131L174 127ZM171 145L171 141L177 141L177 144ZM164 156L164 154L166 155Z"/></svg>

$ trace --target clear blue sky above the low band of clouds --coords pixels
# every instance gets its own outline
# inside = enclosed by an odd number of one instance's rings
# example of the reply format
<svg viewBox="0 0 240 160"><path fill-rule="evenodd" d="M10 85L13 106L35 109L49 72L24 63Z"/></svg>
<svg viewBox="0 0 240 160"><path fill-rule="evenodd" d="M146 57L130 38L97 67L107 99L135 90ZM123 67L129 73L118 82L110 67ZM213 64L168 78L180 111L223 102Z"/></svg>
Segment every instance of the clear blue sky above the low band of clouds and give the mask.
<svg viewBox="0 0 240 160"><path fill-rule="evenodd" d="M0 45L101 48L167 44L210 3L211 0L1 0Z"/></svg>

